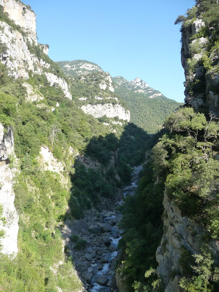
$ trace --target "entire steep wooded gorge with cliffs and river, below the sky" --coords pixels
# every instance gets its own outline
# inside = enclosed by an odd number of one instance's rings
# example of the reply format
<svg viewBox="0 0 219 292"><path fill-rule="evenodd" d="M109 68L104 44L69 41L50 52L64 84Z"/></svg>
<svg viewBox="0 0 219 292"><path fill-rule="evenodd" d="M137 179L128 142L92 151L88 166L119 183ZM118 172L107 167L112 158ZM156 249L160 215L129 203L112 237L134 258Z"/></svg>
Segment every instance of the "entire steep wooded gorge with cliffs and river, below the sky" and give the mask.
<svg viewBox="0 0 219 292"><path fill-rule="evenodd" d="M196 0L175 22L180 104L54 62L0 0L0 291L218 291L218 16Z"/></svg>

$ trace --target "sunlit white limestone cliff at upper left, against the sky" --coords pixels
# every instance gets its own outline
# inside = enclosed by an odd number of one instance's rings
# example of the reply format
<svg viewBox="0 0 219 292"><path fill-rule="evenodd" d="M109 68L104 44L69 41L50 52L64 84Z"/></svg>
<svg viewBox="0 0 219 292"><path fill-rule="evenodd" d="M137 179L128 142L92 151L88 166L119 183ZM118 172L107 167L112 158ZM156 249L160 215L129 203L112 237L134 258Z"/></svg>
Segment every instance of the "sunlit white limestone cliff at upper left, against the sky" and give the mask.
<svg viewBox="0 0 219 292"><path fill-rule="evenodd" d="M34 46L39 46L42 53L48 53L48 46L37 43L36 39L36 15L20 1L0 0L0 5L4 7L4 12L8 17L14 20L15 24L20 25L22 31L16 30L0 21L0 41L6 47L1 54L1 62L11 69L11 75L15 78L29 78L29 72L35 74L45 74L48 81L53 85L57 83L63 90L65 96L72 99L67 82L52 72L47 72L50 64L44 58L42 60L34 53ZM33 47L33 48L31 48ZM53 71L53 69L50 69ZM36 96L35 100L40 99ZM34 101L34 99L32 101Z"/></svg>

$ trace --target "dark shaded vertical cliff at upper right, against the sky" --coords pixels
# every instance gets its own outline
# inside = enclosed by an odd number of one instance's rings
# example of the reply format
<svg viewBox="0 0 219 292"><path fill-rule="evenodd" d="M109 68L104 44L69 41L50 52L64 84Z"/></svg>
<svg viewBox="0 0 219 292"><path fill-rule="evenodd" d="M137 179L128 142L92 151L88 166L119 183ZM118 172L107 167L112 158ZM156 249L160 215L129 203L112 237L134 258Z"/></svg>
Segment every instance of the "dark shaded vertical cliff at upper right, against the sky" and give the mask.
<svg viewBox="0 0 219 292"><path fill-rule="evenodd" d="M185 71L185 101L187 105L197 109L206 109L216 116L219 116L219 95L216 88L219 86L219 74L217 66L219 56L216 51L210 54L206 51L206 44L209 38L196 38L194 35L199 32L205 24L199 16L186 30L182 32L181 62ZM191 38L194 38L192 41ZM192 47L198 47L198 51ZM212 68L205 68L201 61L203 56L209 55L209 62ZM192 64L192 65L191 65Z"/></svg>

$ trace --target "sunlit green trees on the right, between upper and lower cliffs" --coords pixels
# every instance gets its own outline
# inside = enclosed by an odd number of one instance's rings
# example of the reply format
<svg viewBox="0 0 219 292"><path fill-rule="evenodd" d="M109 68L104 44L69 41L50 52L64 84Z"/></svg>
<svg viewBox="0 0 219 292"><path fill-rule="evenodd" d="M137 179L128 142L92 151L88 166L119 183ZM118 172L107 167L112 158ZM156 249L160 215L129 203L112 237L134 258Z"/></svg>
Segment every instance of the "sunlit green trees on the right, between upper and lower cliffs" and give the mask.
<svg viewBox="0 0 219 292"><path fill-rule="evenodd" d="M181 108L166 121L172 135L164 135L154 147L154 171L166 177L171 199L190 218L201 221L215 238L218 236L218 171L213 149L219 124L210 114Z"/></svg>

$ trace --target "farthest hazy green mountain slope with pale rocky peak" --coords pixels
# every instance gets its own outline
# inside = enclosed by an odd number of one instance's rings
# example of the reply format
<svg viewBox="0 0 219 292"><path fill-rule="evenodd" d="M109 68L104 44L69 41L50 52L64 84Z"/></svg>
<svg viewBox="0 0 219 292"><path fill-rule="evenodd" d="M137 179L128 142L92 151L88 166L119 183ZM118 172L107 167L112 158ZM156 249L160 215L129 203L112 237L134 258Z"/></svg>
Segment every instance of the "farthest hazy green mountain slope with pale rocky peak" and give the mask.
<svg viewBox="0 0 219 292"><path fill-rule="evenodd" d="M150 88L140 78L131 82L123 77L113 77L112 80L115 83L115 93L128 105L131 121L147 133L159 131L166 117L180 105L179 102L168 99L159 91Z"/></svg>

